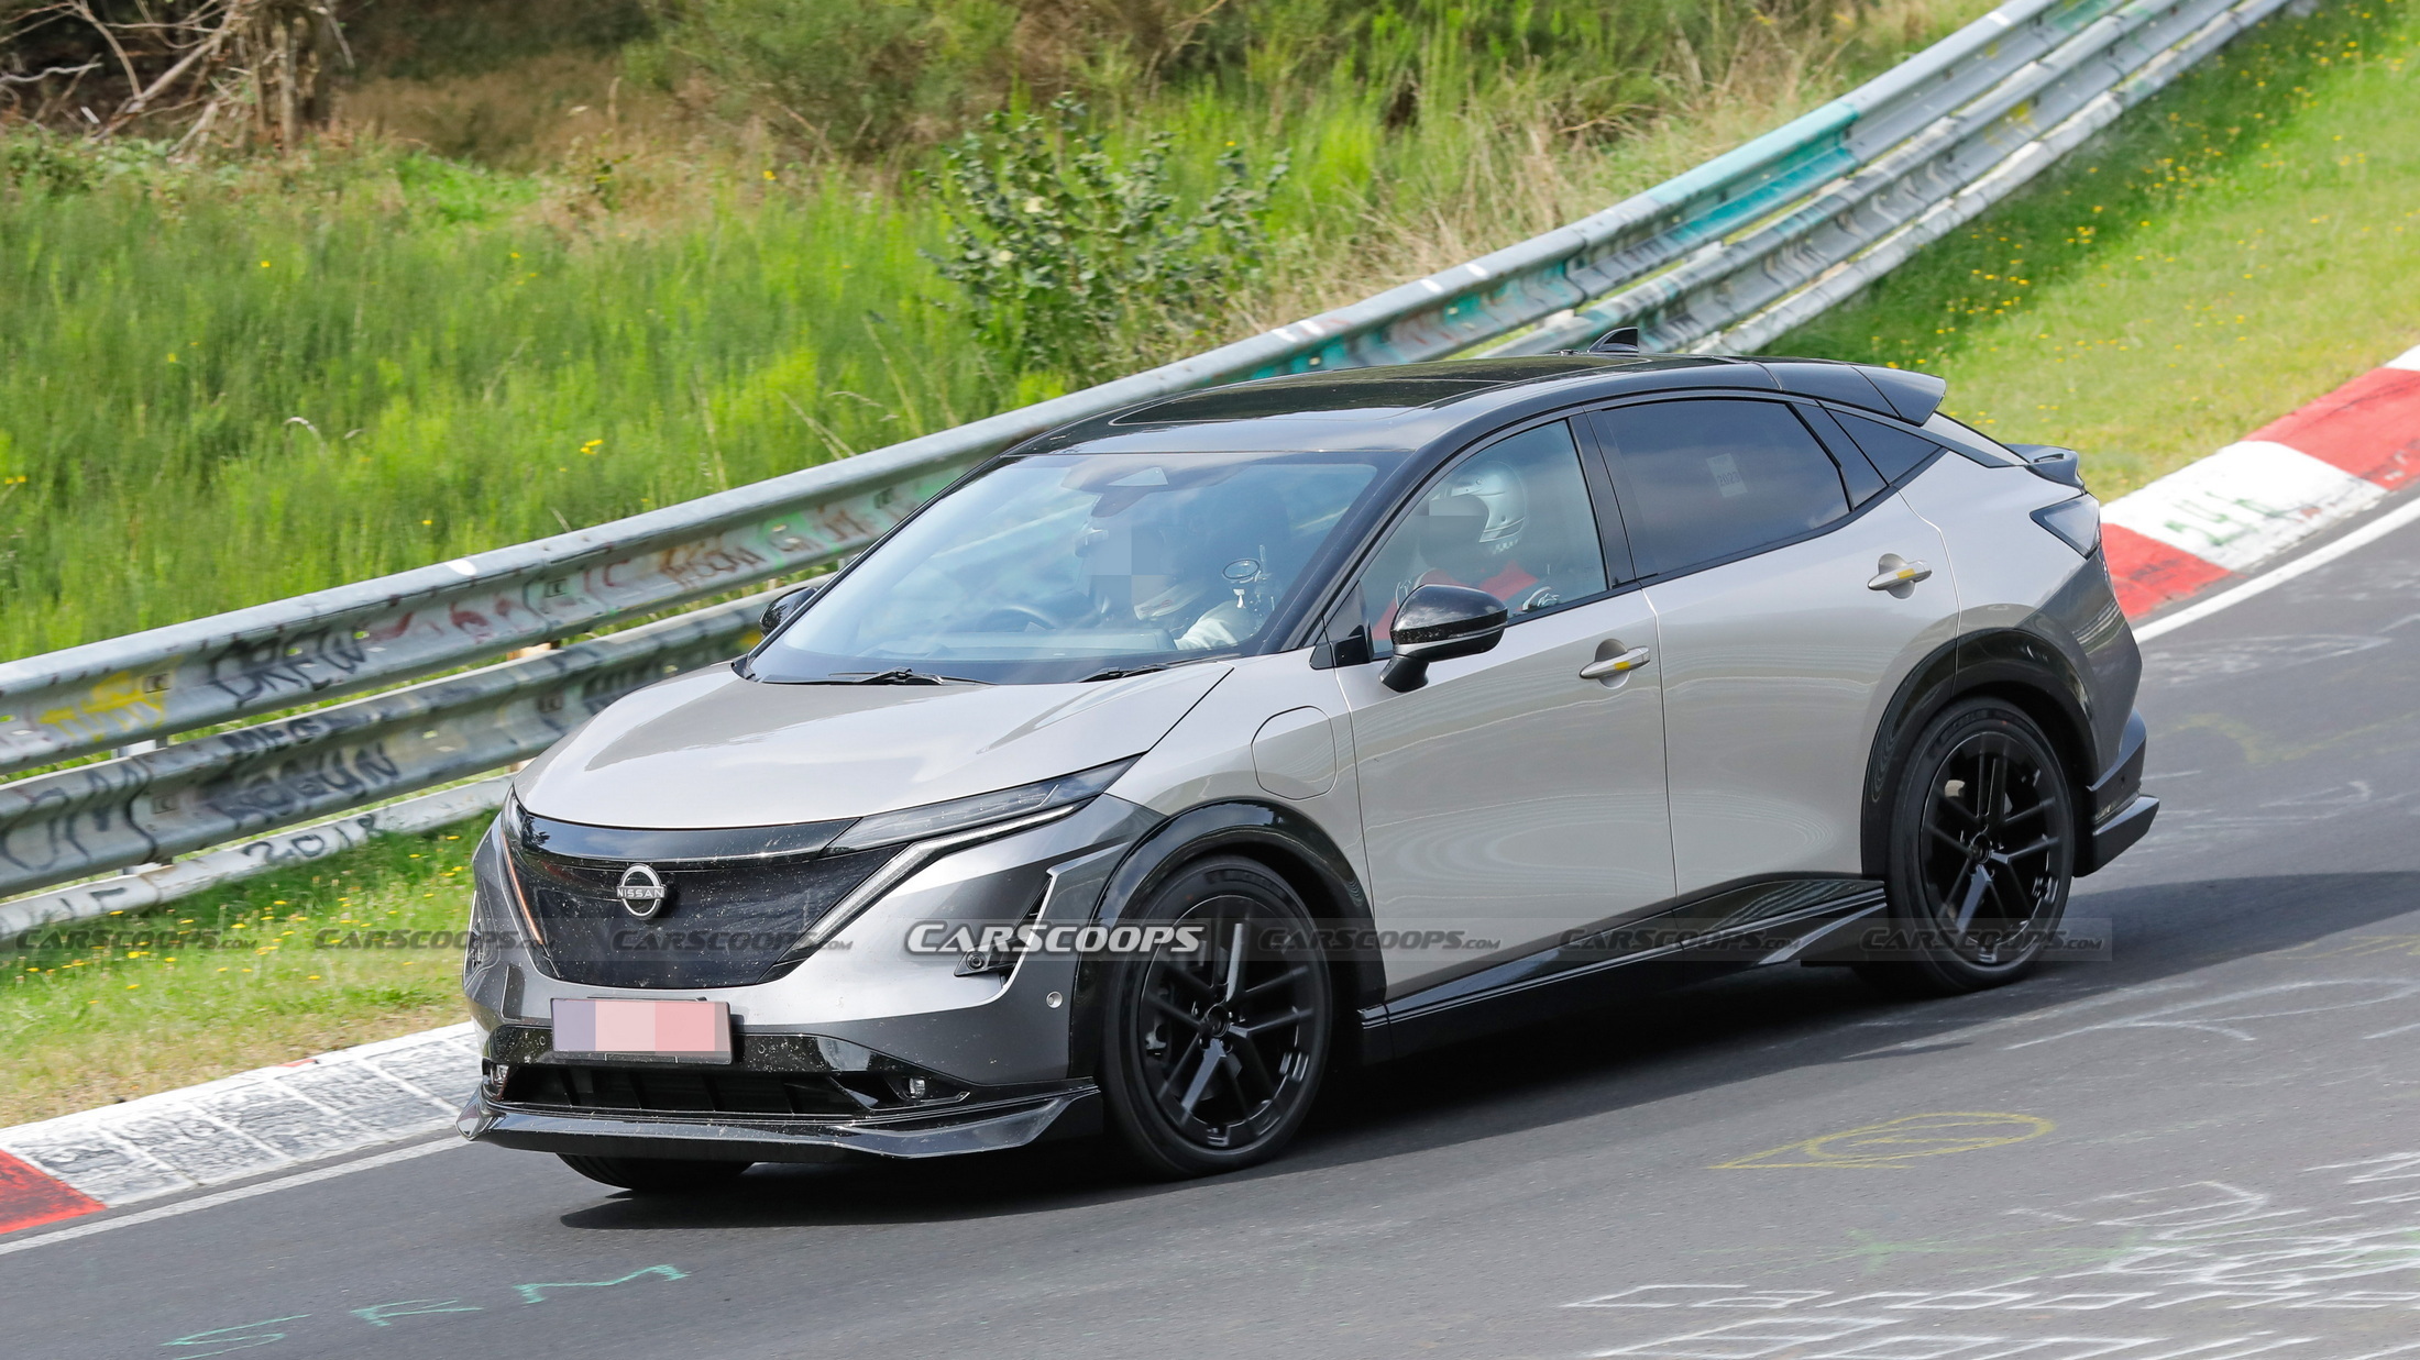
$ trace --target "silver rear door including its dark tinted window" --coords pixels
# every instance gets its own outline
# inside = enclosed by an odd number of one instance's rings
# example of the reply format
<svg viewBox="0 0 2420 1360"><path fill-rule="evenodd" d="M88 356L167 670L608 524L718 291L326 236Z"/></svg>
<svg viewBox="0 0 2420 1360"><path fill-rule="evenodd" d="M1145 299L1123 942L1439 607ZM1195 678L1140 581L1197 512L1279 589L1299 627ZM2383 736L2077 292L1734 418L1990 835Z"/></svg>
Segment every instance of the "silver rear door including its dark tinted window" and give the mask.
<svg viewBox="0 0 2420 1360"><path fill-rule="evenodd" d="M1938 530L1791 402L1595 421L1655 610L1675 891L1859 874L1876 724L1955 629Z"/></svg>

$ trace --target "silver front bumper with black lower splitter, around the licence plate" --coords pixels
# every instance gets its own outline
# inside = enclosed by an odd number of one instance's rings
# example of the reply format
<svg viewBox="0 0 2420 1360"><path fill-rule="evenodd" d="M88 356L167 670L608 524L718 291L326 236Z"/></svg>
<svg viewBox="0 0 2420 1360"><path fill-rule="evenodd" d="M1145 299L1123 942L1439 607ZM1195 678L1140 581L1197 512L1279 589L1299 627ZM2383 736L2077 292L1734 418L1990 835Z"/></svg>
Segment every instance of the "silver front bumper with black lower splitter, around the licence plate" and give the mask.
<svg viewBox="0 0 2420 1360"><path fill-rule="evenodd" d="M1101 796L937 857L801 966L745 987L595 987L542 973L525 949L474 958L465 990L486 1062L457 1128L540 1152L724 1162L956 1157L1094 1133L1099 1094L1072 1053L1077 956L978 968L910 941L929 922L1089 922L1154 823ZM554 1002L668 995L731 1007L728 1065L554 1053Z"/></svg>

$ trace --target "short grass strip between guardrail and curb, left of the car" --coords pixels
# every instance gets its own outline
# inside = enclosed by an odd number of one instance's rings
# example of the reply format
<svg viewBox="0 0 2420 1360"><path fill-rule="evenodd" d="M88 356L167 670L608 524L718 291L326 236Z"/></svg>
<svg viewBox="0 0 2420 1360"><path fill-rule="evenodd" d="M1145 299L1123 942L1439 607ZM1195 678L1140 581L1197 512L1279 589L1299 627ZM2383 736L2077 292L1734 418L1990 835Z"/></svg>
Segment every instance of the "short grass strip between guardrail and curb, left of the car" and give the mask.
<svg viewBox="0 0 2420 1360"><path fill-rule="evenodd" d="M453 939L397 949L361 934L462 932L484 830L390 837L10 944L0 1128L465 1019Z"/></svg>

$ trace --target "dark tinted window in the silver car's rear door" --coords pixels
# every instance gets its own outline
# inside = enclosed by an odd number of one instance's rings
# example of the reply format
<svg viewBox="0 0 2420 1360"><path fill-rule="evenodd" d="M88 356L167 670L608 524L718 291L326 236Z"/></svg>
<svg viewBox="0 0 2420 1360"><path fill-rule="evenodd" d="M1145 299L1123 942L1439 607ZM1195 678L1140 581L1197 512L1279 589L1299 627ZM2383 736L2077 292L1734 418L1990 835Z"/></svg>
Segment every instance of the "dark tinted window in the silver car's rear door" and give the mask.
<svg viewBox="0 0 2420 1360"><path fill-rule="evenodd" d="M1655 402L1597 414L1641 571L1687 571L1849 513L1832 455L1781 402Z"/></svg>

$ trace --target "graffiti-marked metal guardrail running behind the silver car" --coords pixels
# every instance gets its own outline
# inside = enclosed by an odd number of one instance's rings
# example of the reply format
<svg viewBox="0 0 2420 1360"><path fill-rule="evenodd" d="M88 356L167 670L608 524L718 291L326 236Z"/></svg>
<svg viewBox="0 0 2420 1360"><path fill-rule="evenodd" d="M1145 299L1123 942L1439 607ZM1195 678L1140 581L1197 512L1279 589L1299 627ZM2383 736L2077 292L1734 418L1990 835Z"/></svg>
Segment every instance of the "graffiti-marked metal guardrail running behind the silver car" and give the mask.
<svg viewBox="0 0 2420 1360"><path fill-rule="evenodd" d="M593 530L0 663L0 774L387 690L825 564L975 460L1169 392L1445 358L1491 341L1503 341L1496 353L1544 353L1624 322L1660 348L1764 344L2282 2L2011 0L1856 92L1604 213L1350 307ZM745 615L719 605L0 784L0 893L494 770L653 675L731 656Z"/></svg>

